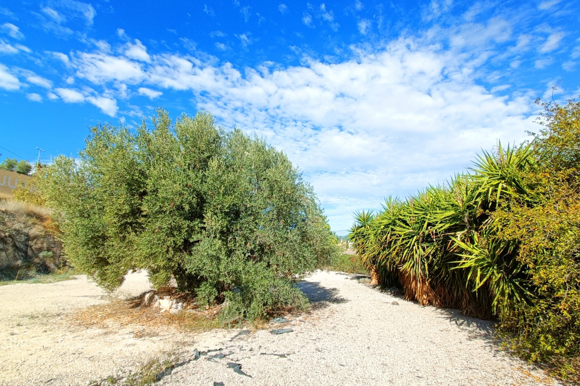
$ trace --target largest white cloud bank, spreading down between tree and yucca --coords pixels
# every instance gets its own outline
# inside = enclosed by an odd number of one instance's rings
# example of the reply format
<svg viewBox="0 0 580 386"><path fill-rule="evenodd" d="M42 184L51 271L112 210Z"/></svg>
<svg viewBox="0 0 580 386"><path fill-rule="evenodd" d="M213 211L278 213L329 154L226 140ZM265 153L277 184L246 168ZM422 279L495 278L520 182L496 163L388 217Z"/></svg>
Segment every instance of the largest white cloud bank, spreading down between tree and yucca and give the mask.
<svg viewBox="0 0 580 386"><path fill-rule="evenodd" d="M147 85L187 90L224 126L263 136L302 168L327 213L338 216L332 220L338 229L350 223L350 215L338 220L339 212L443 182L497 138L520 141L533 130L531 98L495 95L509 85L478 86L472 73L480 62L412 38L342 63L309 59L288 68L263 63L238 70L215 58L170 53L150 59L78 52L71 66L77 78L137 84L150 98L161 91ZM65 101L85 100L78 91L55 92ZM111 116L118 111L111 98L86 101Z"/></svg>

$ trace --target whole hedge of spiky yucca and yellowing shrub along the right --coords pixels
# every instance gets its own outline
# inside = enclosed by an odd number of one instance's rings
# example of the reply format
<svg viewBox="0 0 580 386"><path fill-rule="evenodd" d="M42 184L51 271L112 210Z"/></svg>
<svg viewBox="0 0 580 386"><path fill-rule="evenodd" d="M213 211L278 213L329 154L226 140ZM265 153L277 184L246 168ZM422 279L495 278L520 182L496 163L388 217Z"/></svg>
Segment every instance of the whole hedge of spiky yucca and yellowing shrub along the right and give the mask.
<svg viewBox="0 0 580 386"><path fill-rule="evenodd" d="M389 198L351 229L375 282L498 318L507 345L580 379L580 103L542 104L534 140L484 153L447 186Z"/></svg>

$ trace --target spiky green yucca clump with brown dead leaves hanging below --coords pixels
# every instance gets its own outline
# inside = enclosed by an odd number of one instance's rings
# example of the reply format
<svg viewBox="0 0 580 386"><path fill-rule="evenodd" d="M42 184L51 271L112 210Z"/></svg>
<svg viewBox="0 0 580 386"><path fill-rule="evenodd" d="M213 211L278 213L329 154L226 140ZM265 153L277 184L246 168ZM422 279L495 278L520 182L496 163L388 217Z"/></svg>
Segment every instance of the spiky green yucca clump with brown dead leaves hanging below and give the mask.
<svg viewBox="0 0 580 386"><path fill-rule="evenodd" d="M490 216L510 198L533 197L523 177L533 165L530 145L498 143L446 186L429 186L405 201L389 198L378 214L357 214L350 237L373 282L394 277L406 299L480 317L523 301L528 292L517 242L496 240Z"/></svg>

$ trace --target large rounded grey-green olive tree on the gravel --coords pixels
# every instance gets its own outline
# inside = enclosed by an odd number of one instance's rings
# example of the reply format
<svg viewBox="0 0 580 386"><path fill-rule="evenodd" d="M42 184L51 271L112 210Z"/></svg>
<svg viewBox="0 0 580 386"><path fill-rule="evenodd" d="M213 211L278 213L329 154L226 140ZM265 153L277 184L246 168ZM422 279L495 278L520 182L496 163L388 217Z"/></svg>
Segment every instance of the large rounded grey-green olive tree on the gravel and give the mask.
<svg viewBox="0 0 580 386"><path fill-rule="evenodd" d="M316 196L284 153L209 113L153 128L96 126L77 159L60 156L38 188L55 209L64 251L108 289L146 269L175 278L222 317L255 319L304 306L300 275L339 248Z"/></svg>

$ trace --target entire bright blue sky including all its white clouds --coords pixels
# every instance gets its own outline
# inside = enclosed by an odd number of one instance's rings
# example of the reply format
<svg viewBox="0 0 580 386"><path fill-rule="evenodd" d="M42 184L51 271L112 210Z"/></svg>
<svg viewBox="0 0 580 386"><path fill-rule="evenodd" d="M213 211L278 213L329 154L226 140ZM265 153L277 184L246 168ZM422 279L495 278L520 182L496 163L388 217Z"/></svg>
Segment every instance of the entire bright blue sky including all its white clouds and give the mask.
<svg viewBox="0 0 580 386"><path fill-rule="evenodd" d="M524 140L554 84L576 96L579 19L558 0L4 0L0 158L206 109L284 150L345 234L354 211Z"/></svg>

